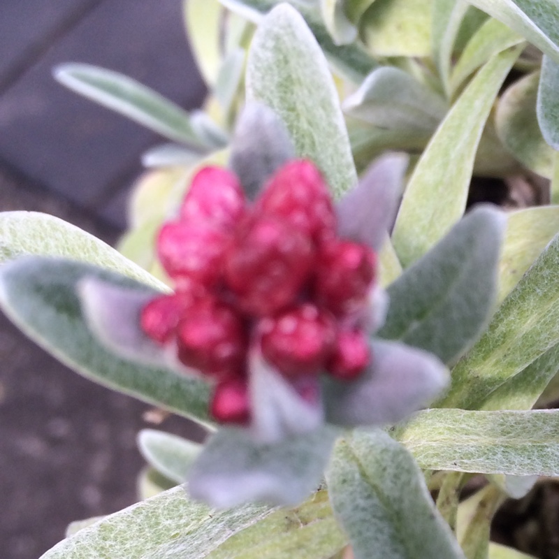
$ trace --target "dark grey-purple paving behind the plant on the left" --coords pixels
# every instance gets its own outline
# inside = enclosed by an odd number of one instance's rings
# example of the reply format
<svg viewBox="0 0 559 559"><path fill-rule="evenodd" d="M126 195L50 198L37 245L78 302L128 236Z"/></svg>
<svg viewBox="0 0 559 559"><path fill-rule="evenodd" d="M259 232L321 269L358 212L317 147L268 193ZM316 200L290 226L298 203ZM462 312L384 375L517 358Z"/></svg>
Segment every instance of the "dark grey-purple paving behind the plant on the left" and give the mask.
<svg viewBox="0 0 559 559"><path fill-rule="evenodd" d="M158 138L57 84L52 68L68 61L199 106L181 1L0 0L0 210L47 212L114 245ZM69 522L136 500L148 408L67 370L1 315L0 359L1 556L36 559Z"/></svg>

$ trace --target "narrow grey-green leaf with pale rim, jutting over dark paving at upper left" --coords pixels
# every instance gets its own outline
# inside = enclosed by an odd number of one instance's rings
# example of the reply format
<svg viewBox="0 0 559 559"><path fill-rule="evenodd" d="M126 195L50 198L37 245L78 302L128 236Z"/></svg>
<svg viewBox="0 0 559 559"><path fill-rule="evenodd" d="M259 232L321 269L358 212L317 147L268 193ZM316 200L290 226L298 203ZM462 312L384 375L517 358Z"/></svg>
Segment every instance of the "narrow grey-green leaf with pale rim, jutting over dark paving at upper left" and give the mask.
<svg viewBox="0 0 559 559"><path fill-rule="evenodd" d="M57 66L54 75L57 81L74 92L119 112L161 136L201 151L212 147L198 136L188 112L124 74L90 64L72 63Z"/></svg>

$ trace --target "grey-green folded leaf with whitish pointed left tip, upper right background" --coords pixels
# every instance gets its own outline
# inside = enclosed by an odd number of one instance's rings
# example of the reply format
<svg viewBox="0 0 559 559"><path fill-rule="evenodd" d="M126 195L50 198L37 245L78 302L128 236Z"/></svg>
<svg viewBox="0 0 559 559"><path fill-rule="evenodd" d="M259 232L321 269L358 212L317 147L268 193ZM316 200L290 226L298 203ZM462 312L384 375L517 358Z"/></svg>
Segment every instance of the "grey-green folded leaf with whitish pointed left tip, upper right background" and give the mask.
<svg viewBox="0 0 559 559"><path fill-rule="evenodd" d="M447 112L447 103L409 73L383 66L347 97L343 109L383 129L433 133Z"/></svg>

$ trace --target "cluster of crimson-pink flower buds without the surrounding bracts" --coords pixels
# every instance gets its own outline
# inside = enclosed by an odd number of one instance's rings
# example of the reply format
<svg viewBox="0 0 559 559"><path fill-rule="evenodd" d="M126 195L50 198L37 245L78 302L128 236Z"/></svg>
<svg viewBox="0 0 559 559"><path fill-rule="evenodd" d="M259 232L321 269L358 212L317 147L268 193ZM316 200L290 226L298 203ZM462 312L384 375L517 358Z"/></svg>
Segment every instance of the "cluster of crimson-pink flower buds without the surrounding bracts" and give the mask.
<svg viewBox="0 0 559 559"><path fill-rule="evenodd" d="M141 326L215 380L218 421L249 421L249 345L292 379L322 371L354 379L368 364L355 317L375 279L375 254L337 238L328 188L310 161L280 168L254 203L233 173L203 168L157 249L176 292L148 303Z"/></svg>

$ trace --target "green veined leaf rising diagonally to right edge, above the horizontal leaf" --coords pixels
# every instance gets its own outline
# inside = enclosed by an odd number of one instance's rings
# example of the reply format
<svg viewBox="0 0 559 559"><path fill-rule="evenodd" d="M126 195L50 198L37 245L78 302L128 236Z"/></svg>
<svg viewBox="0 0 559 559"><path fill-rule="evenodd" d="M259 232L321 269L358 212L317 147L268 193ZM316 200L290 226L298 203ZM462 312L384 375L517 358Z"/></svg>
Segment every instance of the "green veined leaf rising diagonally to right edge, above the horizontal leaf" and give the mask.
<svg viewBox="0 0 559 559"><path fill-rule="evenodd" d="M453 369L451 389L440 405L479 409L491 406L493 392L500 387L506 391L507 382L519 382L518 390L524 383L530 386L531 379L524 375L528 366L559 343L559 290L555 275L550 275L558 266L556 236L503 301L486 333ZM514 379L521 372L521 378ZM541 382L543 390L547 382L539 377Z"/></svg>

